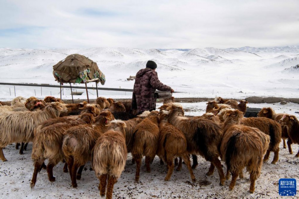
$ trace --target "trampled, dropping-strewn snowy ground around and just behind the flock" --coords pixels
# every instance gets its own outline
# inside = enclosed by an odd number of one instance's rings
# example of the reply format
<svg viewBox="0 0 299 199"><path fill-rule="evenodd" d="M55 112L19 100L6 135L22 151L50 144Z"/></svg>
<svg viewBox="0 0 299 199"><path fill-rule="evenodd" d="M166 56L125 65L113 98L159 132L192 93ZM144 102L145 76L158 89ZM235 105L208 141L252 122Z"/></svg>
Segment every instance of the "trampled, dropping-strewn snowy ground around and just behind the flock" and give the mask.
<svg viewBox="0 0 299 199"><path fill-rule="evenodd" d="M182 103L186 115L202 115L205 112L206 102ZM157 108L161 103L157 103ZM294 114L299 117L298 104L248 104L252 108L272 107L277 113ZM155 157L151 165L152 172L147 173L144 167L144 158L140 173L140 182L136 183L136 165L131 164L132 156L128 154L125 170L114 186L113 198L279 198L278 180L280 178L299 179L297 170L299 158L295 157L298 145L293 144L294 154L289 154L280 144L279 162L271 164L273 153L268 162L264 163L260 178L256 181L256 189L249 193L249 174L244 173L244 179L238 179L233 191L228 191L230 180L225 186L219 185L219 175L215 170L212 176L206 176L210 166L203 158L199 157L199 165L193 170L196 183L192 184L190 174L185 165L181 171L174 171L171 180L164 181L167 169L161 166L159 158ZM29 184L33 174L33 162L30 159L32 143L23 155L19 155L15 145L9 145L4 149L7 162L0 162L0 198L99 198L97 189L99 180L94 171L90 171L91 163L88 162L82 173L82 179L78 180L78 188L71 187L68 173L63 173L63 163L54 167L55 182L48 181L45 170L37 177L34 190L30 190ZM223 170L226 171L224 163Z"/></svg>

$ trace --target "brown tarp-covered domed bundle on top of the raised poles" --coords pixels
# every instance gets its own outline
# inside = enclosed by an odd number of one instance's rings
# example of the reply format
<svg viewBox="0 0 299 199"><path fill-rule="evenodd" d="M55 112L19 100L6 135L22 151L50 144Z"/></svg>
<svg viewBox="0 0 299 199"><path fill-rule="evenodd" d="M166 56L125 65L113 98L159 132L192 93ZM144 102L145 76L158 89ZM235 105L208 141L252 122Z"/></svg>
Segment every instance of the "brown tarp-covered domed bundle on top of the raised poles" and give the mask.
<svg viewBox="0 0 299 199"><path fill-rule="evenodd" d="M96 62L86 56L72 54L53 66L53 75L61 83L101 82L105 84L105 75Z"/></svg>

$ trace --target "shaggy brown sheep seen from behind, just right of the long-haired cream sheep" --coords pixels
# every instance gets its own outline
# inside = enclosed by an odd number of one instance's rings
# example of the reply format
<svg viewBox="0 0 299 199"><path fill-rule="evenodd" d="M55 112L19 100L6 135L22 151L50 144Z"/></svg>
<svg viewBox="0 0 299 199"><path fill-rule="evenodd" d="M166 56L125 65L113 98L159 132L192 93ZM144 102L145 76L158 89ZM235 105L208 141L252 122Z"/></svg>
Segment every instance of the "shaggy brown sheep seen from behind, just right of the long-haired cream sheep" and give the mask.
<svg viewBox="0 0 299 199"><path fill-rule="evenodd" d="M53 167L64 159L62 141L65 136L65 131L72 126L91 124L94 121L92 114L83 114L80 116L80 120L73 120L71 117L62 117L60 119L63 119L64 122L52 123L55 120L49 120L50 122L39 125L34 131L31 154L31 158L34 161L34 172L30 183L31 189L34 188L37 173L46 159L49 159L47 166L48 179L51 182L55 181ZM67 165L65 165L64 172L67 172L66 166Z"/></svg>

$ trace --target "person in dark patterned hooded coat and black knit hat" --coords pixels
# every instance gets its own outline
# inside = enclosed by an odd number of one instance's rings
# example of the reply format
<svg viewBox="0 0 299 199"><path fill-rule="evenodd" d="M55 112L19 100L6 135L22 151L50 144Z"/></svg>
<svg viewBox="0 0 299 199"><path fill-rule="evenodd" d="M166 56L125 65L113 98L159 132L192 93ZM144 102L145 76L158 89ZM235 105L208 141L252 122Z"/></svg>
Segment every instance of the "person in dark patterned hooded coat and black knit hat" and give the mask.
<svg viewBox="0 0 299 199"><path fill-rule="evenodd" d="M143 111L156 109L156 89L174 92L170 86L164 85L159 81L158 74L155 71L156 68L157 64L154 61L148 61L146 68L141 69L136 74L131 109L137 109L138 114L141 114Z"/></svg>

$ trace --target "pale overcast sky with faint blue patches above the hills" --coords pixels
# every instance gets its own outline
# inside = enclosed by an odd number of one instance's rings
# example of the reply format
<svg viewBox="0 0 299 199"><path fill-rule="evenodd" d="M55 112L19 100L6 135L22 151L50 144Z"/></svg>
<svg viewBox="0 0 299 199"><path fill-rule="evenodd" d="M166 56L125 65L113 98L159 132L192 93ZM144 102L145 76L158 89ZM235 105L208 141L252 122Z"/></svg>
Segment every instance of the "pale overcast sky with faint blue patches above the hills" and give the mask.
<svg viewBox="0 0 299 199"><path fill-rule="evenodd" d="M299 0L0 0L0 48L299 45Z"/></svg>

